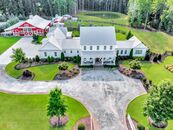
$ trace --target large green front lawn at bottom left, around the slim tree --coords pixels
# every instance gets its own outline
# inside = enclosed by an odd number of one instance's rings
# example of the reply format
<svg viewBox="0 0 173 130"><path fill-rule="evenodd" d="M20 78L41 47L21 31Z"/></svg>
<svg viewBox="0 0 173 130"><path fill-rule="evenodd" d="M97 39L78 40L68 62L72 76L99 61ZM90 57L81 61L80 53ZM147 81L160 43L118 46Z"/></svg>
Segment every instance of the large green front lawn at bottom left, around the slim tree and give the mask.
<svg viewBox="0 0 173 130"><path fill-rule="evenodd" d="M69 122L52 128L47 117L48 95L12 95L0 93L0 130L72 130L75 123L89 116L78 101L64 96Z"/></svg>

